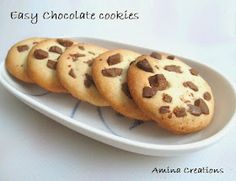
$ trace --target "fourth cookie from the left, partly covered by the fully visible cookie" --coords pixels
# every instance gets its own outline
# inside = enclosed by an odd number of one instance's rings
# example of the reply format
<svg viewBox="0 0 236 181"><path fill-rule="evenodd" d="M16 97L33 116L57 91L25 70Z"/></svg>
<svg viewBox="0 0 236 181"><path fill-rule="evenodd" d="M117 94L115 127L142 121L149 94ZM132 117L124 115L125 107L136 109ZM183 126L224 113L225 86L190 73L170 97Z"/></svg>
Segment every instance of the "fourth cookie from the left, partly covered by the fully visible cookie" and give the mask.
<svg viewBox="0 0 236 181"><path fill-rule="evenodd" d="M138 120L150 120L133 102L126 80L129 64L140 54L111 50L95 58L92 76L98 91L117 112Z"/></svg>

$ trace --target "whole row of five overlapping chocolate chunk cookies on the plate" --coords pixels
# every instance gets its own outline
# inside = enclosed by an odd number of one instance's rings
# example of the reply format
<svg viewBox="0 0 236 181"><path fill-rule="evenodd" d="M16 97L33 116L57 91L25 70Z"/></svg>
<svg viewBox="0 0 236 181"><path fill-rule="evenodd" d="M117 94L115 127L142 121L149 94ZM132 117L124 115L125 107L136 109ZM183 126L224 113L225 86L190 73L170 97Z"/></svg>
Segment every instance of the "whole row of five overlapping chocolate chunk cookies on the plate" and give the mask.
<svg viewBox="0 0 236 181"><path fill-rule="evenodd" d="M24 82L111 106L130 119L155 121L175 134L205 128L214 114L208 83L173 55L30 38L9 50L6 68Z"/></svg>

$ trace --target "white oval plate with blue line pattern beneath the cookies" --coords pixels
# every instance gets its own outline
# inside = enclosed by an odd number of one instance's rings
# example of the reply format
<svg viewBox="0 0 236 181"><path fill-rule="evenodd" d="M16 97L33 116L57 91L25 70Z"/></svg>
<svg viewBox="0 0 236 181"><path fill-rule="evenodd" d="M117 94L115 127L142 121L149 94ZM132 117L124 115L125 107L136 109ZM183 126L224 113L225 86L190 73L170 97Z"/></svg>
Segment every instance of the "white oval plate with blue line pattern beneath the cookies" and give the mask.
<svg viewBox="0 0 236 181"><path fill-rule="evenodd" d="M92 38L74 38L80 42L113 48L127 48L143 54L153 50ZM60 124L108 145L145 155L174 156L197 151L219 140L230 127L235 113L235 91L222 75L211 68L179 57L199 70L215 96L215 115L204 130L178 136L158 128L153 122L128 120L111 108L98 108L67 94L54 94L36 85L25 84L0 67L2 85L35 110Z"/></svg>

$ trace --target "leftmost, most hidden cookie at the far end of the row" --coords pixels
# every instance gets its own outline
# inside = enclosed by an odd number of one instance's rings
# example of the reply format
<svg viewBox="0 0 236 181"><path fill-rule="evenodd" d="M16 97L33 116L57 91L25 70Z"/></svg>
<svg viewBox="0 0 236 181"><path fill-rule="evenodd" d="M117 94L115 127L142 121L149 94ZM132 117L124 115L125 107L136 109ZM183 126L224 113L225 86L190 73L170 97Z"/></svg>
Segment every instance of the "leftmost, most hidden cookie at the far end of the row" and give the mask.
<svg viewBox="0 0 236 181"><path fill-rule="evenodd" d="M33 83L26 71L27 57L32 47L42 40L44 39L29 38L11 47L6 57L6 68L11 75L24 82Z"/></svg>

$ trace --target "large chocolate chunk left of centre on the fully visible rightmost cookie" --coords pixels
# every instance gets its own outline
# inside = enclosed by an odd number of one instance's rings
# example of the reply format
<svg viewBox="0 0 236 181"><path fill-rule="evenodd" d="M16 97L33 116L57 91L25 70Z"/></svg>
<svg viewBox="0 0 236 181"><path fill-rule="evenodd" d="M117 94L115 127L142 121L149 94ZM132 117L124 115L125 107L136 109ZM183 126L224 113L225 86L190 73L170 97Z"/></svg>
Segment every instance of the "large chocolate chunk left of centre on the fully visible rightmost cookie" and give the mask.
<svg viewBox="0 0 236 181"><path fill-rule="evenodd" d="M157 90L165 90L168 87L168 82L163 74L156 74L148 78L151 87L156 87Z"/></svg>

